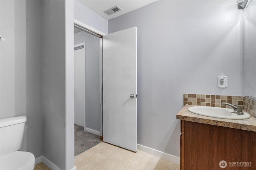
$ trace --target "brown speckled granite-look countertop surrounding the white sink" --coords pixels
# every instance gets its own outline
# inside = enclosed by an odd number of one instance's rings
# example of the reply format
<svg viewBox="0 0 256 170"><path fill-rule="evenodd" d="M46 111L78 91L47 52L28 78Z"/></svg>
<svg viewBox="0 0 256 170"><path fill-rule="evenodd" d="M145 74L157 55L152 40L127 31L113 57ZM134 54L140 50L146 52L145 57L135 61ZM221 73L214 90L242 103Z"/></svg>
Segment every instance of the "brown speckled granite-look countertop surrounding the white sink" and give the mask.
<svg viewBox="0 0 256 170"><path fill-rule="evenodd" d="M188 108L192 106L194 105L185 105L176 115L176 119L256 132L256 119L252 116L249 119L220 119L207 117L188 111Z"/></svg>

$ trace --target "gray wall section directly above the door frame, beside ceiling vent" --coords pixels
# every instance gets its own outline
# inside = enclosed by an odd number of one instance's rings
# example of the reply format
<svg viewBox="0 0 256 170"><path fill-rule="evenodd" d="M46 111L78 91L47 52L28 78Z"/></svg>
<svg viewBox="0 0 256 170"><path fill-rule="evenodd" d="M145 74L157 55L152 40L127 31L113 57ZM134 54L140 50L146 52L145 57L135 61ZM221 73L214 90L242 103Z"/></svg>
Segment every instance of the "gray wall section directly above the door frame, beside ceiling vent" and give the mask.
<svg viewBox="0 0 256 170"><path fill-rule="evenodd" d="M87 25L108 33L108 20L79 2L74 0L74 19L86 23Z"/></svg>

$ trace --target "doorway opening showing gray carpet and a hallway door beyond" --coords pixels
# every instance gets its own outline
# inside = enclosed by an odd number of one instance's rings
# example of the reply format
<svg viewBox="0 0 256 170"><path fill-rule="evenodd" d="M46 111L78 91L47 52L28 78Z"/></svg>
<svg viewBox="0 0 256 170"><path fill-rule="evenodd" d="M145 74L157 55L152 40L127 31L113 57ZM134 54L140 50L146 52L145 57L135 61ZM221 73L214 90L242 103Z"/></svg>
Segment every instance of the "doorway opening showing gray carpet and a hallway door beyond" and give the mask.
<svg viewBox="0 0 256 170"><path fill-rule="evenodd" d="M102 38L74 23L75 155L102 140Z"/></svg>

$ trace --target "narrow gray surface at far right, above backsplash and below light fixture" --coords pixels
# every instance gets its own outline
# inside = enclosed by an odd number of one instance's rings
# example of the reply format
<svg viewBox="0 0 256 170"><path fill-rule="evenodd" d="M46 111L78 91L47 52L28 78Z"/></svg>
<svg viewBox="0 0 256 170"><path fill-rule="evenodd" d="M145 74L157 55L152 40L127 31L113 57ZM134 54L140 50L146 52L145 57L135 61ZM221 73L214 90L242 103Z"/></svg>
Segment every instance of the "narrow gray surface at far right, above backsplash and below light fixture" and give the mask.
<svg viewBox="0 0 256 170"><path fill-rule="evenodd" d="M244 96L256 98L256 0L244 9Z"/></svg>

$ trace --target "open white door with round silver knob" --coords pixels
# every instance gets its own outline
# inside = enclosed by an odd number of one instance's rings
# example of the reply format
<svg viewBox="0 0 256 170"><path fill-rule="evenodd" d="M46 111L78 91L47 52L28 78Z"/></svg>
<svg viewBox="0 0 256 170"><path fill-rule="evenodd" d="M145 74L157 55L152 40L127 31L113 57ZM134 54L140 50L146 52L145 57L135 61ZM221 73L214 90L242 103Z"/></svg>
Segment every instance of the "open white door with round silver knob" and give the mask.
<svg viewBox="0 0 256 170"><path fill-rule="evenodd" d="M137 28L103 36L103 141L137 151Z"/></svg>

